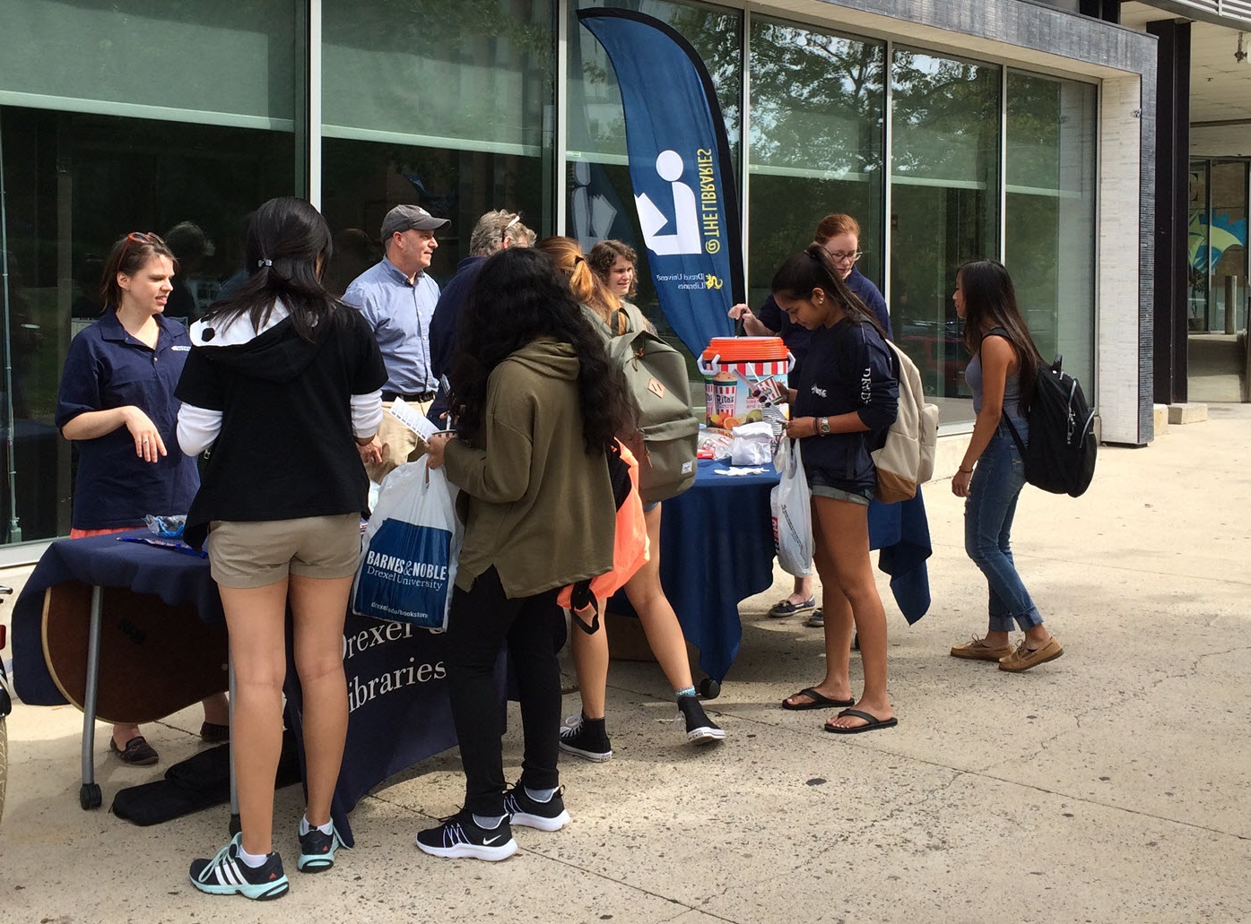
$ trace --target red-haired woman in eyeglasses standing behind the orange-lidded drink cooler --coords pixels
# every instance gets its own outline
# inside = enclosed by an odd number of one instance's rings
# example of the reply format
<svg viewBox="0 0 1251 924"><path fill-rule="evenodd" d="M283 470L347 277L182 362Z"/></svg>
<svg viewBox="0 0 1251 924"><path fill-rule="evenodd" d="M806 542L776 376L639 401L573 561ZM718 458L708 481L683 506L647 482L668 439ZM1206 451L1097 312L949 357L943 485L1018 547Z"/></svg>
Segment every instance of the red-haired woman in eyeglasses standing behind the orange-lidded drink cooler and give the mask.
<svg viewBox="0 0 1251 924"><path fill-rule="evenodd" d="M856 298L877 318L878 325L886 331L888 340L891 335L891 314L886 308L886 299L881 290L873 285L872 280L864 276L856 263L861 258L859 249L859 223L851 215L833 213L821 219L813 241L819 244L833 260L838 278L847 285ZM743 330L751 336L779 335L786 343L791 355L794 356L794 369L792 378L799 370L803 358L808 354L808 341L811 334L798 324L793 324L786 313L778 308L777 301L769 295L761 306L759 316L752 314L747 305L734 305L729 309L729 316L742 319ZM817 598L813 594L812 576L796 578L794 590L783 600L778 600L769 610L769 616L783 619L793 616L796 613L812 610L806 625L821 628L824 625L824 610L817 606ZM819 704L818 704L819 705Z"/></svg>

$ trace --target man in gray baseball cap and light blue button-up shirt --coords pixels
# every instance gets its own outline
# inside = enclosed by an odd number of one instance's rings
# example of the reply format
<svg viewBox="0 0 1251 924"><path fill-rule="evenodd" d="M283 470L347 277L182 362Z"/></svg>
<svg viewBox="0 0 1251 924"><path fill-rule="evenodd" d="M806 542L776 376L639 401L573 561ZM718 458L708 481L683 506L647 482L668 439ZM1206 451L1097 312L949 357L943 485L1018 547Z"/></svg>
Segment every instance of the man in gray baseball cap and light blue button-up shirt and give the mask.
<svg viewBox="0 0 1251 924"><path fill-rule="evenodd" d="M439 246L434 233L448 224L418 205L397 205L383 219L385 256L343 294L344 301L365 315L378 339L387 366L384 409L399 398L424 415L434 400L438 379L430 366L430 319L439 285L425 270ZM422 439L390 414L383 414L375 440L382 444L382 461L365 463L374 481L425 453Z"/></svg>

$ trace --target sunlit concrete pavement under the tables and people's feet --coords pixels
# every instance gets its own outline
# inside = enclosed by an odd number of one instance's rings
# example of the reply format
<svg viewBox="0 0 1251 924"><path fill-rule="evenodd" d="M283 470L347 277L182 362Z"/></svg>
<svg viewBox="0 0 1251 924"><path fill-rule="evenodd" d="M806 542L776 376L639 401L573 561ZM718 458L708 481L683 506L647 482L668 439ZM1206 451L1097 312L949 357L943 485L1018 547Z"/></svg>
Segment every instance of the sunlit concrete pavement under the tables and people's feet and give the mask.
<svg viewBox="0 0 1251 924"><path fill-rule="evenodd" d="M80 714L19 704L0 921L1251 920L1251 406L1102 448L1078 500L1026 489L1016 558L1066 648L1026 674L947 655L985 633L986 585L948 483L926 503L933 608L908 628L881 583L897 729L836 738L827 714L778 708L823 673L819 630L766 616L788 589L778 573L741 608L742 654L708 704L729 733L719 748L683 743L654 664L614 663L615 756L562 763L568 828L517 829L522 850L499 864L420 854L415 831L459 805L452 751L364 799L358 849L308 876L288 788L291 891L261 905L186 881L224 843L225 808L155 828L81 811ZM191 754L198 726L196 710L154 725L163 761L146 770L108 758L101 726L105 805Z"/></svg>

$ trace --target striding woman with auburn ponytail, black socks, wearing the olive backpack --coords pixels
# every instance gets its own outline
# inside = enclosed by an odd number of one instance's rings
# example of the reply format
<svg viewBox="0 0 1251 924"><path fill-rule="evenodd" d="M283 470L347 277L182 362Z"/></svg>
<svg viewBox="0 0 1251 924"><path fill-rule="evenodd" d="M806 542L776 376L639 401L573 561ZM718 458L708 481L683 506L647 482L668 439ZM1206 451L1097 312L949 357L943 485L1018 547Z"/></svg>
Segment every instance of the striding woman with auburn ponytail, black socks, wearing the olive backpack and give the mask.
<svg viewBox="0 0 1251 924"><path fill-rule="evenodd" d="M588 316L594 316L595 330L605 341L627 330L627 323L629 330L639 330L647 324L642 311L622 301L617 291L610 290L592 271L578 241L572 238L547 238L539 241L538 249L550 256L557 269L564 274L573 296L582 303ZM618 309L620 314L615 314ZM628 321L624 320L627 318ZM696 695L682 624L661 586L661 503L643 505L652 554L647 564L626 583L626 596L638 613L647 644L673 688L678 716L682 719L678 730L691 744L714 744L724 740L726 731L708 718ZM602 763L613 755L605 725L608 630L600 624L599 630L589 635L574 631L569 645L578 674L582 713L567 719L560 729L560 750Z"/></svg>

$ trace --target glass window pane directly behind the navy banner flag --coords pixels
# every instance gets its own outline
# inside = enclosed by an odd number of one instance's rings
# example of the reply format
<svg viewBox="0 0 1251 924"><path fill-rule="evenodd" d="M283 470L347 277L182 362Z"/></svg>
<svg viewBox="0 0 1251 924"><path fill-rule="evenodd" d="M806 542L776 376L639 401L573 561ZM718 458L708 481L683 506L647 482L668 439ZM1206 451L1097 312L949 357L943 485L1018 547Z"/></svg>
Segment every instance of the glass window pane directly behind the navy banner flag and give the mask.
<svg viewBox="0 0 1251 924"><path fill-rule="evenodd" d="M739 156L742 110L742 14L696 4L666 0L607 0L577 4L583 9L615 8L654 16L681 33L703 60L721 104L729 139L731 160ZM615 238L638 253L638 296L643 313L679 350L659 310L647 265L647 249L634 211L634 194L626 165L626 116L617 75L603 48L578 23L569 4L568 198L565 234L589 250L595 241ZM734 180L737 181L737 180ZM694 366L692 365L694 374Z"/></svg>

